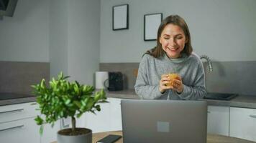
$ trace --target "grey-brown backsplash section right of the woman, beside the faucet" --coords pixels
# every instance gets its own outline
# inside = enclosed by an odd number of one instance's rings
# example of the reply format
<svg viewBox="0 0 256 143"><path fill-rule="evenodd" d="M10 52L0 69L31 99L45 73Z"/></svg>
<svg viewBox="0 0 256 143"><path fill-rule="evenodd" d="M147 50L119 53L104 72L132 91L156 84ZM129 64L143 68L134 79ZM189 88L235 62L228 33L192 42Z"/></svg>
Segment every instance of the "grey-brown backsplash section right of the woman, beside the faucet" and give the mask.
<svg viewBox="0 0 256 143"><path fill-rule="evenodd" d="M208 92L256 96L256 61L213 61L212 66L210 72L204 62Z"/></svg>

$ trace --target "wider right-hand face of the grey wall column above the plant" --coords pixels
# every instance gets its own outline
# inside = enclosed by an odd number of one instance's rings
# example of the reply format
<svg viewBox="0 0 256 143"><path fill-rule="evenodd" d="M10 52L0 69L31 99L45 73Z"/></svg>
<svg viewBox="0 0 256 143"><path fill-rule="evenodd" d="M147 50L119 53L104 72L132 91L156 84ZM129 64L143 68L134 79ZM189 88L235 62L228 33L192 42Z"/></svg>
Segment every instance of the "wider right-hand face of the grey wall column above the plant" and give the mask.
<svg viewBox="0 0 256 143"><path fill-rule="evenodd" d="M68 75L93 84L99 70L100 0L68 1Z"/></svg>

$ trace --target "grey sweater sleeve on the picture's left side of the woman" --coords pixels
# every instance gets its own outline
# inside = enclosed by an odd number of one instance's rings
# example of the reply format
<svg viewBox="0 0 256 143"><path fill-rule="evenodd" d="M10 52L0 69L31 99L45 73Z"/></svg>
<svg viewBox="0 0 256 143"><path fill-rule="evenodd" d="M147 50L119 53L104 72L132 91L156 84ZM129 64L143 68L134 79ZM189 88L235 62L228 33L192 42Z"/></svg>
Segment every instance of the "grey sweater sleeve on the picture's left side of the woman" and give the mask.
<svg viewBox="0 0 256 143"><path fill-rule="evenodd" d="M148 79L148 69L149 69L148 60L149 59L147 59L147 55L142 57L142 61L140 62L134 89L136 94L140 97L140 99L158 99L162 97L163 94L159 91L158 84L150 85L150 82Z"/></svg>

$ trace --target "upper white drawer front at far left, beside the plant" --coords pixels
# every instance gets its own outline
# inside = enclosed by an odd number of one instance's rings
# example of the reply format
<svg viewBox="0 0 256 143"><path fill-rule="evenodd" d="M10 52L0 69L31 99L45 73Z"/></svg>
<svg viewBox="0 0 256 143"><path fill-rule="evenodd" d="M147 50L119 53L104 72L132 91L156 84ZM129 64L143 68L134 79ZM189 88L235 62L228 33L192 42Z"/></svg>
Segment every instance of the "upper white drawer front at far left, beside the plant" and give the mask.
<svg viewBox="0 0 256 143"><path fill-rule="evenodd" d="M35 110L36 108L38 108L36 102L1 106L0 123L35 117L39 114L39 112Z"/></svg>

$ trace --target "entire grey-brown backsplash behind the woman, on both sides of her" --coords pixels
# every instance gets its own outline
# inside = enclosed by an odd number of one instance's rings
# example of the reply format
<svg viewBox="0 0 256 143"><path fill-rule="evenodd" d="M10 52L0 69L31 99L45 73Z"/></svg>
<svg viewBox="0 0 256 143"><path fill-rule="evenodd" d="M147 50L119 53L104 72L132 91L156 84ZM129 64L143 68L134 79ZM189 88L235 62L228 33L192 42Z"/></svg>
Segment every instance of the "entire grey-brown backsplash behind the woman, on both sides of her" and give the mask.
<svg viewBox="0 0 256 143"><path fill-rule="evenodd" d="M213 71L204 63L207 92L256 96L256 61L212 61ZM100 63L100 71L121 71L124 89L134 89L134 70L140 63Z"/></svg>

